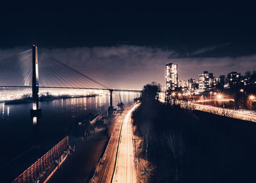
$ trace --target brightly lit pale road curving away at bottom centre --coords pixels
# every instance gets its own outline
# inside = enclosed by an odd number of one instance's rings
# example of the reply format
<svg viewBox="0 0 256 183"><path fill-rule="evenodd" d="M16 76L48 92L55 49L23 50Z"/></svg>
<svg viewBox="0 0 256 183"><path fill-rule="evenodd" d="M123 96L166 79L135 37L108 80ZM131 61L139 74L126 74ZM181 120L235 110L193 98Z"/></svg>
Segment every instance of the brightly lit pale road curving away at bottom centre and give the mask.
<svg viewBox="0 0 256 183"><path fill-rule="evenodd" d="M137 182L134 166L134 147L131 113L138 106L136 104L125 115L122 123L121 136L118 146L116 166L112 182Z"/></svg>

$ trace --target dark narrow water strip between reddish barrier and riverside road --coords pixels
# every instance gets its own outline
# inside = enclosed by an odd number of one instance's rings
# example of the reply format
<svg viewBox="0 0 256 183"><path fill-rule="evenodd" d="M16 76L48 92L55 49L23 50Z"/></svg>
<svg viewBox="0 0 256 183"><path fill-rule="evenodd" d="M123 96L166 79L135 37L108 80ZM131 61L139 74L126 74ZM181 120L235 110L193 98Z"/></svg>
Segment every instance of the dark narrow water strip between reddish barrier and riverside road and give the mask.
<svg viewBox="0 0 256 183"><path fill-rule="evenodd" d="M106 129L97 129L87 139L76 144L76 152L70 155L60 170L56 171L49 183L74 182L84 183L92 177L104 148L108 143Z"/></svg>

